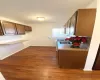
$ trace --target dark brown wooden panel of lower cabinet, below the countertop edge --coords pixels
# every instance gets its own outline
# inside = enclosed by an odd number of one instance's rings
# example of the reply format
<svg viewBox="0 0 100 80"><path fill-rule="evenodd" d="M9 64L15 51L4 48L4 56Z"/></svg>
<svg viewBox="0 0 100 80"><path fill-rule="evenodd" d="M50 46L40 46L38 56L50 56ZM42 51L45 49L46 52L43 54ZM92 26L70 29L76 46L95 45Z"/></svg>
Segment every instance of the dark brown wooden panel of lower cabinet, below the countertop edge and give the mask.
<svg viewBox="0 0 100 80"><path fill-rule="evenodd" d="M88 51L59 50L57 60L60 68L84 69Z"/></svg>

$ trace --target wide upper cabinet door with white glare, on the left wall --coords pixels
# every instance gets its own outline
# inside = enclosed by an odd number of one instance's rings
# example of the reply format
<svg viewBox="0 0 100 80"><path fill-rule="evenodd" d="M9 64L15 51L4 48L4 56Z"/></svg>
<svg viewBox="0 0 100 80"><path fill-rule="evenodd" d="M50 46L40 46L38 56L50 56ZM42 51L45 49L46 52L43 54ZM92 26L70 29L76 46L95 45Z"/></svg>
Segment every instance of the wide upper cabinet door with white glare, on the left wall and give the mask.
<svg viewBox="0 0 100 80"><path fill-rule="evenodd" d="M8 22L8 21L2 21L1 25L2 25L4 35L15 35L16 34L15 23Z"/></svg>

